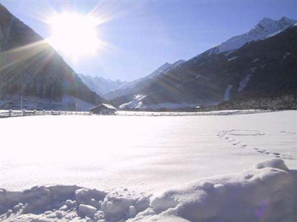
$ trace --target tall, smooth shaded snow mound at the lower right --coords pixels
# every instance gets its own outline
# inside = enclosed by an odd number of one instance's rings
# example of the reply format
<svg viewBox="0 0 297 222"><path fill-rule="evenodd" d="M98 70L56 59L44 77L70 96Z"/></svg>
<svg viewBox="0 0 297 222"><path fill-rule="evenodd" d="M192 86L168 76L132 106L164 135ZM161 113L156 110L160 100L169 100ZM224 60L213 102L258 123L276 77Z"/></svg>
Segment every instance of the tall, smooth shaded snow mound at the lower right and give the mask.
<svg viewBox="0 0 297 222"><path fill-rule="evenodd" d="M241 174L201 179L152 197L131 221L293 222L296 172L271 159Z"/></svg>

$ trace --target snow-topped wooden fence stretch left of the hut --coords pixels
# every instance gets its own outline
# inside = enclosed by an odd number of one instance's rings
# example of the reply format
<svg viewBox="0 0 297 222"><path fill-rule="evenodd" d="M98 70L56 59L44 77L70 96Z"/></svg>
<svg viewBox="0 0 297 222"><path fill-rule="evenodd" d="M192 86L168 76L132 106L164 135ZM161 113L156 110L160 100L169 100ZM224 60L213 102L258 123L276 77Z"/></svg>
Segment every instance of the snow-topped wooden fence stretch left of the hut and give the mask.
<svg viewBox="0 0 297 222"><path fill-rule="evenodd" d="M37 110L7 110L0 111L0 117L25 116L25 115L91 115L87 111L37 111Z"/></svg>

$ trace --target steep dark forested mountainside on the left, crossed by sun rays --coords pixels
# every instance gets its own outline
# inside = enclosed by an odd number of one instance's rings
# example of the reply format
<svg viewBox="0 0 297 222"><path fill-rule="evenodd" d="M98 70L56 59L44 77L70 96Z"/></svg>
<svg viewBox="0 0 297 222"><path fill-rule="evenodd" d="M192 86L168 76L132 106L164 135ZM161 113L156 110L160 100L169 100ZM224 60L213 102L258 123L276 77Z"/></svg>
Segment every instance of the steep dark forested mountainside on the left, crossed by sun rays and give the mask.
<svg viewBox="0 0 297 222"><path fill-rule="evenodd" d="M84 104L79 109L85 110L103 101L45 39L1 4L0 67L2 102L19 104L23 95L57 103Z"/></svg>

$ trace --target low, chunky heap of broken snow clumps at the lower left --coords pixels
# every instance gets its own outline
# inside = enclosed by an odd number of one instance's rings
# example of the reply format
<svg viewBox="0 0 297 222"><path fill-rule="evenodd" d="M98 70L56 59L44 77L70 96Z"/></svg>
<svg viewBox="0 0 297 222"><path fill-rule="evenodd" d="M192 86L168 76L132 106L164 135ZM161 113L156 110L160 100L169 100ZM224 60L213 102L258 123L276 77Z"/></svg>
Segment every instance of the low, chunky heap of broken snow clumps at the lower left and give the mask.
<svg viewBox="0 0 297 222"><path fill-rule="evenodd" d="M23 192L1 190L0 221L126 221L149 207L149 197L127 188L101 191L52 185Z"/></svg>

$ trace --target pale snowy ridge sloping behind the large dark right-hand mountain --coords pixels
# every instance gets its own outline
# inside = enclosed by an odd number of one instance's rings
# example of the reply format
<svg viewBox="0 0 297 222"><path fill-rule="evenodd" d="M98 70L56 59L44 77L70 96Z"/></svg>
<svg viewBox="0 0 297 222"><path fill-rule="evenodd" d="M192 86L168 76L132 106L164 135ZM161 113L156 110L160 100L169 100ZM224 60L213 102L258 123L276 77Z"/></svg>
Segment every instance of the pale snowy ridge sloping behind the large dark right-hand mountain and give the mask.
<svg viewBox="0 0 297 222"><path fill-rule="evenodd" d="M142 85L145 84L145 82L147 80L153 79L160 74L169 72L170 70L180 66L184 62L186 62L186 61L180 59L173 64L165 63L162 66L160 66L159 68L157 68L155 71L153 71L151 74L148 74L147 76L142 77L142 78L138 78L134 81L127 82L126 84L123 84L122 86L120 86L118 89L111 90L110 92L108 92L104 95L104 98L106 98L108 100L112 100L117 97L133 94L135 91L138 90L138 88L142 87ZM129 98L131 98L131 97L129 97Z"/></svg>

